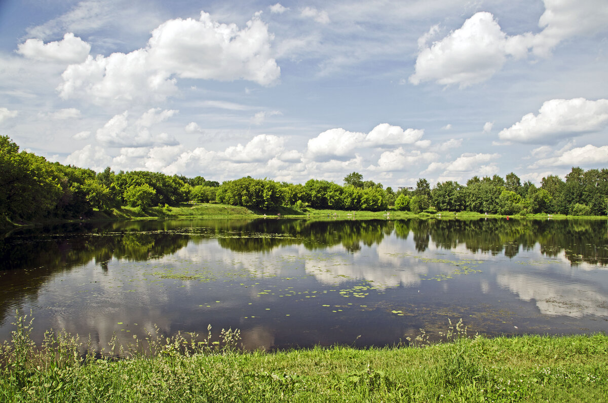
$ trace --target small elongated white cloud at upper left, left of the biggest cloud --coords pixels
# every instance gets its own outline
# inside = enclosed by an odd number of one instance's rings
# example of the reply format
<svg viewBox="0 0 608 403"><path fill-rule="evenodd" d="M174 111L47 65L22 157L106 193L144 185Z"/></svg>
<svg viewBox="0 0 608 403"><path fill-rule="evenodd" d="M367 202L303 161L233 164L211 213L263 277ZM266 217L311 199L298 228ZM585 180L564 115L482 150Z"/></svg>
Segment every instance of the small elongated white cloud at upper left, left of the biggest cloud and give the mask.
<svg viewBox="0 0 608 403"><path fill-rule="evenodd" d="M46 44L40 39L30 38L19 44L16 52L34 60L82 63L90 51L90 44L68 32L61 41Z"/></svg>

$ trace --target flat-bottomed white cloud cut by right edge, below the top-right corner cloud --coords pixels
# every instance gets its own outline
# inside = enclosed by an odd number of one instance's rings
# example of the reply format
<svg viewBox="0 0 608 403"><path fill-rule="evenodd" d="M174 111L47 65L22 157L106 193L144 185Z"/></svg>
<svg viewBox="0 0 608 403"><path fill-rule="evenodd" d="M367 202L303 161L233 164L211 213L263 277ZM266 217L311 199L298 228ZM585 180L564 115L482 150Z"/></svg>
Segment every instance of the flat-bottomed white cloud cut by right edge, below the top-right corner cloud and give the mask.
<svg viewBox="0 0 608 403"><path fill-rule="evenodd" d="M539 114L532 113L500 131L506 141L544 143L603 130L608 125L608 99L552 99Z"/></svg>

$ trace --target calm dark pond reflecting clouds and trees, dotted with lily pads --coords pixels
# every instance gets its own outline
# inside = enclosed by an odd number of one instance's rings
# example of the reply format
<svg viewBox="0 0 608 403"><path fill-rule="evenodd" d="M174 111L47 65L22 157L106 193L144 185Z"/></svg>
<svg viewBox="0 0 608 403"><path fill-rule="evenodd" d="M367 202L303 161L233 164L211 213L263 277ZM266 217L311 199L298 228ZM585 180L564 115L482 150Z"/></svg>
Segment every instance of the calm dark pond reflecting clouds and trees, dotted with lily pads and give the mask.
<svg viewBox="0 0 608 403"><path fill-rule="evenodd" d="M0 244L0 341L15 310L33 337L107 346L144 329L247 348L383 346L469 334L608 330L606 220L160 220L14 231ZM359 337L360 336L360 337Z"/></svg>

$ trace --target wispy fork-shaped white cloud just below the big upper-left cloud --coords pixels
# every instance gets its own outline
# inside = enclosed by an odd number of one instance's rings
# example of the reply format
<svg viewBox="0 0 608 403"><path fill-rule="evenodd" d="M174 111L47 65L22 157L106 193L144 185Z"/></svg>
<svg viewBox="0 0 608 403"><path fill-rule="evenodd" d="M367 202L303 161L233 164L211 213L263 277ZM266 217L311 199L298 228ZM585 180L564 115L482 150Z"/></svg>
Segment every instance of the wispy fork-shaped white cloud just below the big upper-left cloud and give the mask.
<svg viewBox="0 0 608 403"><path fill-rule="evenodd" d="M176 145L173 135L167 133L151 134L150 127L173 116L175 110L152 108L143 113L136 122L129 122L129 112L113 116L102 128L97 130L95 138L103 144L113 147L144 147L149 145Z"/></svg>

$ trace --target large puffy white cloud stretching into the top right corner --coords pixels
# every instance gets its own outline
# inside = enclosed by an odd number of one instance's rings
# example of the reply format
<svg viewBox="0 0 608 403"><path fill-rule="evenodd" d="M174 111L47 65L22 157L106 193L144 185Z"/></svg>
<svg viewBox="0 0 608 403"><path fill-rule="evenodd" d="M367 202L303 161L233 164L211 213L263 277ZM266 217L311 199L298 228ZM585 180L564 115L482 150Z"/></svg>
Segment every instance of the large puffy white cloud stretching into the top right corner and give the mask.
<svg viewBox="0 0 608 403"><path fill-rule="evenodd" d="M417 85L436 81L442 85L458 84L464 88L488 80L505 64L507 57L534 55L547 57L561 41L575 35L593 35L608 27L608 8L596 0L545 0L545 12L539 19L542 32L506 35L494 16L475 13L463 26L440 41L427 46L437 35L432 27L418 40L420 51L415 73L409 81Z"/></svg>

